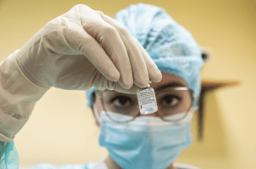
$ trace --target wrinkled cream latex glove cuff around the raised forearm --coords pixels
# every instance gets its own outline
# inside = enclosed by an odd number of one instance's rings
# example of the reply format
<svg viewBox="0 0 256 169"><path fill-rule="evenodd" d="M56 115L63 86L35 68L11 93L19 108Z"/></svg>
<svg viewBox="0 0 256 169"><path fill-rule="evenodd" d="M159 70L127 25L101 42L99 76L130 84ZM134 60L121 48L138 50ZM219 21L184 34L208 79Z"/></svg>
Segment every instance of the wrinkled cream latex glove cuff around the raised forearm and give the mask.
<svg viewBox="0 0 256 169"><path fill-rule="evenodd" d="M0 141L3 142L15 138L36 102L49 90L49 87L40 87L31 82L23 74L15 53L0 63Z"/></svg>

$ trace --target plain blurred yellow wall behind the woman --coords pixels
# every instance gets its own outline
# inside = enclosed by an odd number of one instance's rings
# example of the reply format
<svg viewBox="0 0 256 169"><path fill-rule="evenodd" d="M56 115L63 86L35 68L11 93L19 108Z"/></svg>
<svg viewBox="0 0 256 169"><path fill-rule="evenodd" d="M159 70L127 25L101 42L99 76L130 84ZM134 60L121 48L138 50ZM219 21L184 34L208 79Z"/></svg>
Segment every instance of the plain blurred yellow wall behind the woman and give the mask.
<svg viewBox="0 0 256 169"><path fill-rule="evenodd" d="M163 8L195 40L212 48L202 78L238 80L207 95L205 138L183 152L177 162L202 169L254 168L256 156L256 3L224 1L8 0L0 7L0 61L21 48L49 20L84 3L114 17L134 3ZM122 2L122 3L120 3ZM84 92L51 88L38 101L30 120L16 135L20 165L55 165L99 161L107 151L98 146L98 128L86 107Z"/></svg>

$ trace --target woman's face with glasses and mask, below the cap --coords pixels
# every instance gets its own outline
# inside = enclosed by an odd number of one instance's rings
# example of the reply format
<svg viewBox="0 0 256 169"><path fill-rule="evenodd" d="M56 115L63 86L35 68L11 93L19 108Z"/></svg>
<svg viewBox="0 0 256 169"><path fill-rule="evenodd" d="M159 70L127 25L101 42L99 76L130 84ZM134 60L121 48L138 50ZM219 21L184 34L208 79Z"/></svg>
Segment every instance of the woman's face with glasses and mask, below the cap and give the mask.
<svg viewBox="0 0 256 169"><path fill-rule="evenodd" d="M96 168L195 168L173 164L192 142L193 91L182 77L165 72L151 87L158 111L148 115L140 113L136 94L105 90L93 96L99 143L109 153Z"/></svg>

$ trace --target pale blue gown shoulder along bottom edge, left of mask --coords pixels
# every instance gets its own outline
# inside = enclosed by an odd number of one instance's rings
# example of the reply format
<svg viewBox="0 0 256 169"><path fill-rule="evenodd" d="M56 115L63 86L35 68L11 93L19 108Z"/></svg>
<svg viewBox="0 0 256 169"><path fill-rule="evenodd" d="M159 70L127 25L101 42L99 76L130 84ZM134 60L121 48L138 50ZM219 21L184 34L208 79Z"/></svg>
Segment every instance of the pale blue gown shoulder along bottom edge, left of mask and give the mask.
<svg viewBox="0 0 256 169"><path fill-rule="evenodd" d="M96 164L94 162L89 162L81 165L68 164L65 166L54 166L52 164L43 163L38 166L33 166L30 169L92 169Z"/></svg>

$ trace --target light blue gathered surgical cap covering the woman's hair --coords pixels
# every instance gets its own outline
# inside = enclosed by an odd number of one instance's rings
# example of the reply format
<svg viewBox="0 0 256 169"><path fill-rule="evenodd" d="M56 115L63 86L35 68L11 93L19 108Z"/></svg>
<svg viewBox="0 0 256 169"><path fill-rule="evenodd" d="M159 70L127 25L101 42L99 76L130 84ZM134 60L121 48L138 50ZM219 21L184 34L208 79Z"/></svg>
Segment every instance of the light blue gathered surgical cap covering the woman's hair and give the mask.
<svg viewBox="0 0 256 169"><path fill-rule="evenodd" d="M183 77L196 96L193 107L198 110L203 59L189 31L177 24L164 8L144 3L120 10L114 20L137 38L161 71ZM86 91L89 107L95 91L95 88Z"/></svg>

